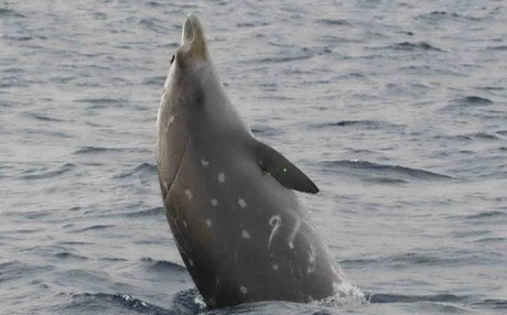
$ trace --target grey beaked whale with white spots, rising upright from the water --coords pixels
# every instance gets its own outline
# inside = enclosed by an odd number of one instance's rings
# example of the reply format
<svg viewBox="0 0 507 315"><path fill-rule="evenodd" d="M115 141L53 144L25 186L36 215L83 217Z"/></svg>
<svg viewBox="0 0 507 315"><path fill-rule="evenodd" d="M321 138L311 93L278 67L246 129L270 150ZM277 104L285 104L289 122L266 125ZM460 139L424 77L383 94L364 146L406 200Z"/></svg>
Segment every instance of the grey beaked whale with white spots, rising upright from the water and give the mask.
<svg viewBox="0 0 507 315"><path fill-rule="evenodd" d="M171 62L157 131L168 221L209 308L336 293L343 275L292 191L319 188L252 137L194 14Z"/></svg>

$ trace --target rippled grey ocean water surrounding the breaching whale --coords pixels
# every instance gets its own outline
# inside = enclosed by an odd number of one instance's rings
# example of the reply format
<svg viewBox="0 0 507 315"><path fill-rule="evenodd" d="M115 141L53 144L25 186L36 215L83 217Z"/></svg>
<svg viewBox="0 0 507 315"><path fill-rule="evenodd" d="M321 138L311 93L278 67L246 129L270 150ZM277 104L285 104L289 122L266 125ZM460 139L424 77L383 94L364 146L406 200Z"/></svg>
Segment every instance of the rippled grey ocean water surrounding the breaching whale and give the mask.
<svg viewBox="0 0 507 315"><path fill-rule="evenodd" d="M0 0L0 314L207 312L155 164L188 12L368 301L207 314L507 313L505 1Z"/></svg>

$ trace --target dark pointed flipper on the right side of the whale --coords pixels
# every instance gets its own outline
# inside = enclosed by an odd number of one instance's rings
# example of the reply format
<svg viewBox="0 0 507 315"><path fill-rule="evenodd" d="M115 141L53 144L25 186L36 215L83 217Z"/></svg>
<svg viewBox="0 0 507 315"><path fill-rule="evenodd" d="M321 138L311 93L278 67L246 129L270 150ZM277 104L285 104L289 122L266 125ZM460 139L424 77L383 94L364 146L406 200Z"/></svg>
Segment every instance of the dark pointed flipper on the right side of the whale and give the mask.
<svg viewBox="0 0 507 315"><path fill-rule="evenodd" d="M280 152L262 142L258 142L256 150L259 165L282 186L303 193L319 193L319 187L312 180Z"/></svg>

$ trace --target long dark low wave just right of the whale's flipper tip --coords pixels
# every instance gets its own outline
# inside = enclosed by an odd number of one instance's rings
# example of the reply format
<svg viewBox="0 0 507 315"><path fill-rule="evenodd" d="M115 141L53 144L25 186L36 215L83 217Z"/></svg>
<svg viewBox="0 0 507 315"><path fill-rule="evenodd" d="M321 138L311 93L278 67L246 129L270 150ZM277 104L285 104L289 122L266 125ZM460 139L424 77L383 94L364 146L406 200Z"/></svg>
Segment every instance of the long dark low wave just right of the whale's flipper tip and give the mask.
<svg viewBox="0 0 507 315"><path fill-rule="evenodd" d="M424 170L409 169L399 165L384 165L376 164L367 161L358 160L341 160L341 161L327 161L323 162L325 169L333 170L354 170L362 172L362 175L367 175L365 180L369 182L380 183L402 183L410 178L418 180L454 180L454 177L438 174ZM350 173L350 172L349 172ZM356 172L354 172L356 173Z"/></svg>

